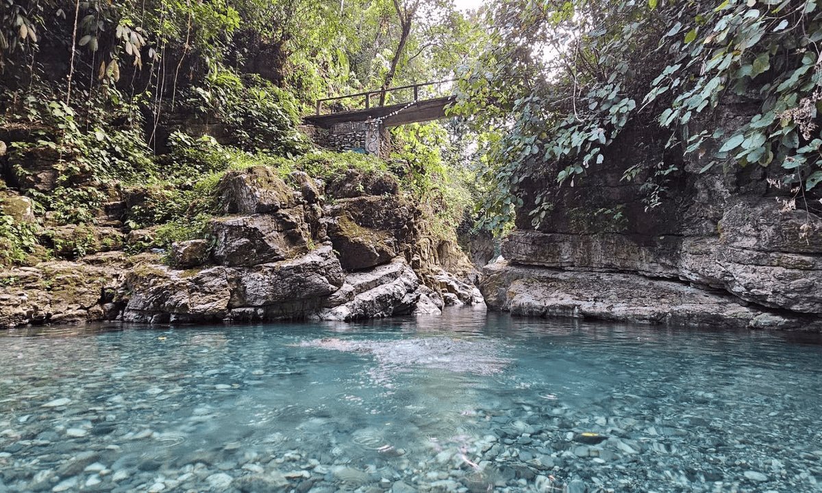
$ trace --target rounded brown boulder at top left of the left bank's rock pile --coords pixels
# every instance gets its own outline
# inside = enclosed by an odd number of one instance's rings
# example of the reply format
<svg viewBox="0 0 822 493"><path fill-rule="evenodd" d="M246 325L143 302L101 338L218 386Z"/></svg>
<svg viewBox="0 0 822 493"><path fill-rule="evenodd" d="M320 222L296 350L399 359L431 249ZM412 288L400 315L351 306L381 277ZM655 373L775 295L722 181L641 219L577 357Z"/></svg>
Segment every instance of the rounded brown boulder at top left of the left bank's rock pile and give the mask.
<svg viewBox="0 0 822 493"><path fill-rule="evenodd" d="M217 185L223 211L228 214L260 214L293 208L298 198L277 176L274 168L248 167L229 171Z"/></svg>

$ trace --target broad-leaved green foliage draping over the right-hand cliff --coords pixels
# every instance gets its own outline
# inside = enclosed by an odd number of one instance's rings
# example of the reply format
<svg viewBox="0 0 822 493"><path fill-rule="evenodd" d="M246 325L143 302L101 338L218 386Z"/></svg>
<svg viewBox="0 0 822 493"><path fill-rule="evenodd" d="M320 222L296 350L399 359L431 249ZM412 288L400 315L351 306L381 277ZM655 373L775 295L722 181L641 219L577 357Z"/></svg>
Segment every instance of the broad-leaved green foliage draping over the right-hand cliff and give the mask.
<svg viewBox="0 0 822 493"><path fill-rule="evenodd" d="M575 185L629 124L655 127L666 148L703 158L702 172L718 163L779 167L774 183L793 199L822 182L816 2L514 0L496 2L487 21L491 42L462 67L456 109L501 135L487 148L492 217L524 205L538 224L552 204L542 194L518 203L521 181ZM717 130L717 108L734 101L757 110ZM653 208L675 167L641 162L625 179L645 177Z"/></svg>

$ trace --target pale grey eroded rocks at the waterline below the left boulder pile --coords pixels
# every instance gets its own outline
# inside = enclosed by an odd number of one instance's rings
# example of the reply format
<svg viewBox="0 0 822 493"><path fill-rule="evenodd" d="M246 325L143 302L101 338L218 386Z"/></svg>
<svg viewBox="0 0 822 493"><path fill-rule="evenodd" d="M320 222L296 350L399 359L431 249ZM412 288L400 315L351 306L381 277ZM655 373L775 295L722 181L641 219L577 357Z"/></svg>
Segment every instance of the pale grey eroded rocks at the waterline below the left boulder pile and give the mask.
<svg viewBox="0 0 822 493"><path fill-rule="evenodd" d="M402 258L346 274L330 244L253 267L180 271L146 265L127 275L127 322L349 321L413 312L418 277Z"/></svg>

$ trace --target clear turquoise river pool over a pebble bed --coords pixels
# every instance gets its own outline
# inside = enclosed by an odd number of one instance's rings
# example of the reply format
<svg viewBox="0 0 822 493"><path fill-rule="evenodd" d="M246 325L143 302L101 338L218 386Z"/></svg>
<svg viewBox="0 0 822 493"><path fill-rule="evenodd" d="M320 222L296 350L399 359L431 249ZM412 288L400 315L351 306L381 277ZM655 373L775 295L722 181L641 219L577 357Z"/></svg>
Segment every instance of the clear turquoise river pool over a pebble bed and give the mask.
<svg viewBox="0 0 822 493"><path fill-rule="evenodd" d="M0 336L0 491L822 491L816 336L469 309Z"/></svg>

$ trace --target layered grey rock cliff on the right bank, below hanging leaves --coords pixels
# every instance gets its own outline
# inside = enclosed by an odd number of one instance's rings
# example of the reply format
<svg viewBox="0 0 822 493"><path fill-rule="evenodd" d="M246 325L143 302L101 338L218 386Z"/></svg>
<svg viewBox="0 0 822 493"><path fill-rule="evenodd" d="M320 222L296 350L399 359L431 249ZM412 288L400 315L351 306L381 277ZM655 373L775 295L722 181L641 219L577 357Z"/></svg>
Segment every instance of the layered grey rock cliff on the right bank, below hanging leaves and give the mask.
<svg viewBox="0 0 822 493"><path fill-rule="evenodd" d="M744 116L728 107L723 126ZM730 110L733 111L730 111ZM486 267L491 308L541 316L820 330L822 219L795 210L775 188L777 165L704 172L711 158L682 160L640 130L622 135L574 187L550 177L523 183L522 199L547 194L553 208L533 226L528 207L502 245L506 262ZM688 160L690 159L690 160ZM675 170L648 209L632 163ZM810 197L809 197L810 199ZM785 204L788 203L788 207ZM812 204L811 204L812 205Z"/></svg>

